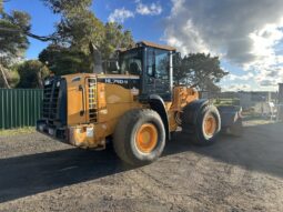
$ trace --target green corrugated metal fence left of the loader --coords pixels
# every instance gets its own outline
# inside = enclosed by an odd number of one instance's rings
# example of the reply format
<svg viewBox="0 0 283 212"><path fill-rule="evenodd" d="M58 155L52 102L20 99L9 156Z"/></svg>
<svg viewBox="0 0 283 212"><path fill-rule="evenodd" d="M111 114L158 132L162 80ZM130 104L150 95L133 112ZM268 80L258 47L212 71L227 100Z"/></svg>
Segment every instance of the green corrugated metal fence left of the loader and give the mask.
<svg viewBox="0 0 283 212"><path fill-rule="evenodd" d="M0 129L36 125L43 90L0 89Z"/></svg>

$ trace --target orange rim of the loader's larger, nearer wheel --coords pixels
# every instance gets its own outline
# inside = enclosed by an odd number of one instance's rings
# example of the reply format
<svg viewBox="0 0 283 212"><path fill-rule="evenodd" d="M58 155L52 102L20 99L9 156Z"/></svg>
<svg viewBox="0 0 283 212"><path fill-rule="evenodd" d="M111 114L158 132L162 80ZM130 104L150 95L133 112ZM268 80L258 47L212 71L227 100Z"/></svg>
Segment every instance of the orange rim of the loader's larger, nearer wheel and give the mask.
<svg viewBox="0 0 283 212"><path fill-rule="evenodd" d="M135 135L135 144L142 153L150 153L158 144L158 130L152 123L144 123Z"/></svg>

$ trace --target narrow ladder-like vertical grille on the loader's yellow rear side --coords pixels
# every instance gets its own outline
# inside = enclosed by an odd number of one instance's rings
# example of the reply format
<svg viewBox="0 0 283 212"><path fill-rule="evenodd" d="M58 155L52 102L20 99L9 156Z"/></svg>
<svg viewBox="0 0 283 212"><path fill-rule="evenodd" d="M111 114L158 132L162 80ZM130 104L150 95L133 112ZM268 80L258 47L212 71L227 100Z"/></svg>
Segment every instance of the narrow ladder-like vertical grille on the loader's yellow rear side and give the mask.
<svg viewBox="0 0 283 212"><path fill-rule="evenodd" d="M97 92L97 79L88 79L89 83L89 120L91 123L98 122L98 92Z"/></svg>

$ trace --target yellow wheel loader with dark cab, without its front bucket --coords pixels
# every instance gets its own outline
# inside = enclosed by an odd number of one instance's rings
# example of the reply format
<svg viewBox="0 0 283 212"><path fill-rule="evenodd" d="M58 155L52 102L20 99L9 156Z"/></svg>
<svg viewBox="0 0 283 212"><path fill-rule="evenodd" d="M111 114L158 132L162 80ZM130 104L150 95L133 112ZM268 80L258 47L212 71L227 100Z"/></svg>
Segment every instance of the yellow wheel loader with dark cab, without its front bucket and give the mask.
<svg viewBox="0 0 283 212"><path fill-rule="evenodd" d="M111 140L119 158L134 165L156 160L179 127L196 144L213 143L219 111L195 89L173 85L174 54L172 47L143 41L120 51L111 73L48 78L37 130L80 148L104 149Z"/></svg>

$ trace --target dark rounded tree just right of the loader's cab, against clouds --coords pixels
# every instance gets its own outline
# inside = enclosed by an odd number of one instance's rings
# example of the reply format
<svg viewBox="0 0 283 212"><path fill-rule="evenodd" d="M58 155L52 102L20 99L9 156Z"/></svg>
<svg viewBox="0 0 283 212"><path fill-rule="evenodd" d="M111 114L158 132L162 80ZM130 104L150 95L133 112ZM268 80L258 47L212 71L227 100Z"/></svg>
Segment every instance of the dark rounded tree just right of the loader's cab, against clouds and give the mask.
<svg viewBox="0 0 283 212"><path fill-rule="evenodd" d="M219 57L205 53L191 53L179 59L175 81L181 81L198 88L201 91L219 91L216 83L229 74L220 67Z"/></svg>

